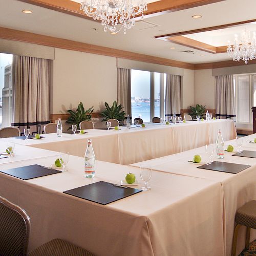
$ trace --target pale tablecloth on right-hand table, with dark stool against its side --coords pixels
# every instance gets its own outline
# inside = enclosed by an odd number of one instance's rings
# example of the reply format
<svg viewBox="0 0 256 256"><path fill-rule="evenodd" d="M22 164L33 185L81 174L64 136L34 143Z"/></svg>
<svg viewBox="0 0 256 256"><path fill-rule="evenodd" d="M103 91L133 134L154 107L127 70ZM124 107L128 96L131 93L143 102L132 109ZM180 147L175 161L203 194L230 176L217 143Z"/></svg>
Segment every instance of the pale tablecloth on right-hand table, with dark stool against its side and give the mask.
<svg viewBox="0 0 256 256"><path fill-rule="evenodd" d="M256 138L256 135L250 135L243 138L242 150L256 151L256 144L249 143L250 140ZM225 142L227 145L233 145L235 150L238 149L235 140ZM250 200L256 200L256 160L253 158L244 158L232 156L234 153L225 153L224 159L216 159L218 161L240 163L251 165L250 168L243 170L238 174L229 174L215 172L211 170L197 168L200 164L188 163L193 160L194 155L201 155L202 162L207 161L205 155L205 147L196 148L187 152L175 154L172 156L161 157L149 161L132 164L132 166L147 165L152 166L154 170L160 172L178 174L190 177L198 177L212 181L219 181L223 187L225 201L224 230L226 236L226 255L231 254L231 244L234 229L234 217L237 209ZM242 229L241 229L242 230ZM237 252L244 248L245 233L240 230ZM244 230L245 231L245 230ZM255 230L251 231L251 240L255 239Z"/></svg>

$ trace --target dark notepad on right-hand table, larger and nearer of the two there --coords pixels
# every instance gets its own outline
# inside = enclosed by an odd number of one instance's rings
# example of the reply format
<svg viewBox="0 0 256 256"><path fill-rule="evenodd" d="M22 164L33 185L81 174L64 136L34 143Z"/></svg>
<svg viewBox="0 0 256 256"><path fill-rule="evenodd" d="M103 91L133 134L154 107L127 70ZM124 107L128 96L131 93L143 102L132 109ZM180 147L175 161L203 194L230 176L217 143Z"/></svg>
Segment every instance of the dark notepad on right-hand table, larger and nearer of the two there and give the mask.
<svg viewBox="0 0 256 256"><path fill-rule="evenodd" d="M223 173L237 174L249 167L251 167L251 165L214 161L212 163L207 163L207 164L198 166L197 168L207 169L207 170L216 170L217 172L223 172Z"/></svg>

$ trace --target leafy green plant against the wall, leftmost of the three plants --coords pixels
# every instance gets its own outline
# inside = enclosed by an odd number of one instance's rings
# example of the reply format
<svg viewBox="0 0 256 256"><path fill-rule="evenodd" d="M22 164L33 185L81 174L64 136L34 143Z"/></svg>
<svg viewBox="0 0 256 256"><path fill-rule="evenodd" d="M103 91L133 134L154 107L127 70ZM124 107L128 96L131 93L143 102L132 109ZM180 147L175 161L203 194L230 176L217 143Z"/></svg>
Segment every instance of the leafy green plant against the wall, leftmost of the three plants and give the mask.
<svg viewBox="0 0 256 256"><path fill-rule="evenodd" d="M73 110L68 110L70 116L66 122L70 124L76 124L77 127L79 127L79 123L81 121L92 119L91 114L93 113L93 111L93 106L88 110L84 110L83 104L82 102L80 102L77 106L76 112L74 112ZM71 129L71 127L69 127L69 129Z"/></svg>

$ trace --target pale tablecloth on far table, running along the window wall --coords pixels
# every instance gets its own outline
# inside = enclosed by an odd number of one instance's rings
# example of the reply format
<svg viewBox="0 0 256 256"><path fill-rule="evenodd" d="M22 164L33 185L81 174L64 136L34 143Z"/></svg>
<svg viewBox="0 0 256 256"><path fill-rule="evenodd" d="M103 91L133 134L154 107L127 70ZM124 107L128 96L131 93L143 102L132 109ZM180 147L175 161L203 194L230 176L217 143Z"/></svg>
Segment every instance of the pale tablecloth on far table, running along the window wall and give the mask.
<svg viewBox="0 0 256 256"><path fill-rule="evenodd" d="M218 129L222 130L224 140L236 137L236 130L231 120L187 121L172 125L146 124L145 128L120 127L119 131L88 130L81 135L45 134L40 140L18 140L16 143L30 145L57 152L69 152L71 155L83 157L87 140L92 144L97 160L131 164L148 159L167 156L192 148L209 141L216 141ZM5 139L0 139L5 140Z"/></svg>

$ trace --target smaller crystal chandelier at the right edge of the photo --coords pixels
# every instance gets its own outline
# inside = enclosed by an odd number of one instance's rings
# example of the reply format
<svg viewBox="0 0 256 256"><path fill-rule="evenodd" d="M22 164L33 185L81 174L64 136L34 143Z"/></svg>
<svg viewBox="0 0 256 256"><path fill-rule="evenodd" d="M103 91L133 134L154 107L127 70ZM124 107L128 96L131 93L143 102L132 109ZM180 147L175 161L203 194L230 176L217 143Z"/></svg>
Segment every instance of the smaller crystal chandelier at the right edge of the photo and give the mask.
<svg viewBox="0 0 256 256"><path fill-rule="evenodd" d="M242 59L246 64L248 60L256 58L256 35L253 32L251 39L250 31L245 27L241 34L241 39L238 39L238 35L234 35L234 45L230 45L228 41L227 53L234 61L240 61Z"/></svg>

